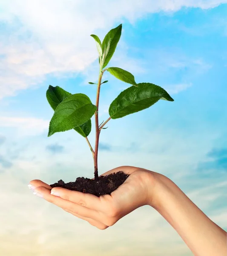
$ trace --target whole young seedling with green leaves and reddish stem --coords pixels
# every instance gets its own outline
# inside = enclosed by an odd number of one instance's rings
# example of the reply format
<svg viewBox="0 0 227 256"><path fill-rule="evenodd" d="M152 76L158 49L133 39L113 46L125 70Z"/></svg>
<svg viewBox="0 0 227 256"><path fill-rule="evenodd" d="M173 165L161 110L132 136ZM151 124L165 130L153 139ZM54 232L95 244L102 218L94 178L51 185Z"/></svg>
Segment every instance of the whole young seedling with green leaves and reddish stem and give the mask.
<svg viewBox="0 0 227 256"><path fill-rule="evenodd" d="M160 86L151 84L151 83L136 83L134 76L126 70L123 70L119 67L106 67L109 64L110 59L112 58L115 49L117 47L118 41L121 37L122 24L117 26L114 29L111 29L103 39L101 43L97 35L91 35L95 39L96 46L98 49L98 59L99 59L99 74L98 74L98 83L97 83L97 95L96 102L93 104L88 96L83 93L71 94L61 87L49 86L49 89L46 92L46 97L55 111L50 124L49 124L49 133L48 137L52 136L56 132L60 131L69 131L74 129L80 135L82 135L86 142L89 145L89 148L92 151L92 156L94 159L94 174L95 182L100 181L98 177L98 144L99 136L102 129L105 129L104 126L110 119L118 119L129 114L144 110L154 105L158 100L163 99L167 101L174 101L171 96ZM124 81L128 84L131 84L131 87L128 87L126 90L121 92L116 99L109 106L109 118L106 122L99 124L98 120L98 111L99 111L99 96L101 84L104 84L108 81L102 82L103 73L108 71L115 78ZM89 84L96 84L89 82ZM92 145L89 143L88 135L91 132L92 123L91 118L95 115L95 148L92 148ZM127 176L125 176L127 177ZM124 177L124 178L125 178ZM125 178L126 179L126 178ZM125 180L124 179L124 180ZM108 179L110 180L110 179ZM123 180L123 182L124 182ZM106 181L108 182L108 181ZM109 181L111 184L109 187L115 190L117 187L114 187L112 180ZM123 183L122 182L122 183ZM57 184L57 185L55 185ZM51 186L64 186L66 184L61 180L58 183L55 183ZM120 186L120 185L118 185ZM69 188L70 189L70 188ZM71 188L72 189L72 188ZM81 190L82 188L80 188ZM75 189L74 189L75 190ZM86 189L82 189L83 192ZM112 190L112 191L113 191ZM93 192L91 192L93 193ZM98 194L100 195L100 193Z"/></svg>

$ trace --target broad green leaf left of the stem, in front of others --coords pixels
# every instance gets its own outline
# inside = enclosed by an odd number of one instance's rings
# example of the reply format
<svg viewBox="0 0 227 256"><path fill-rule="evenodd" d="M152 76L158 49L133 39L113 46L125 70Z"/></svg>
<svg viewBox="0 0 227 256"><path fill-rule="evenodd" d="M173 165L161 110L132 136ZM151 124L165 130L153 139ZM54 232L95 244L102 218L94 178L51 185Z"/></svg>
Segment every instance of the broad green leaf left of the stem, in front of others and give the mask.
<svg viewBox="0 0 227 256"><path fill-rule="evenodd" d="M55 109L50 121L48 137L56 132L69 131L85 124L94 115L96 109L96 106L85 94L70 95L60 102Z"/></svg>

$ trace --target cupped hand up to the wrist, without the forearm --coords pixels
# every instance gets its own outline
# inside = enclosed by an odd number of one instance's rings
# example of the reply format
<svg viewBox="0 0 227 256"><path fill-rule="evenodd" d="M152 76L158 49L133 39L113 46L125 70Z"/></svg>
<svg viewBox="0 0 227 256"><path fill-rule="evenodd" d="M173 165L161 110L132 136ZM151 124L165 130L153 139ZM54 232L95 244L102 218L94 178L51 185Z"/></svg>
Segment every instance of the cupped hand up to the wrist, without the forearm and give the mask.
<svg viewBox="0 0 227 256"><path fill-rule="evenodd" d="M130 175L111 195L100 197L61 187L52 188L41 180L32 180L30 184L36 195L104 230L138 207L152 206L155 199L155 177L158 173L121 166L102 175L119 171Z"/></svg>

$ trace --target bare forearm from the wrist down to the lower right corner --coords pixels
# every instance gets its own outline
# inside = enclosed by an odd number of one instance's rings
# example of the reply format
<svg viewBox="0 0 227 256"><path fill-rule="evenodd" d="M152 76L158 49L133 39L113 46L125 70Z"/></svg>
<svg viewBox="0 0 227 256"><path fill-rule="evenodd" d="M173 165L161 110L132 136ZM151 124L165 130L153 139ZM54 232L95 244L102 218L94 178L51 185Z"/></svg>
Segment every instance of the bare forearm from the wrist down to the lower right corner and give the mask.
<svg viewBox="0 0 227 256"><path fill-rule="evenodd" d="M195 256L227 256L227 233L204 214L172 180L158 175L154 207Z"/></svg>

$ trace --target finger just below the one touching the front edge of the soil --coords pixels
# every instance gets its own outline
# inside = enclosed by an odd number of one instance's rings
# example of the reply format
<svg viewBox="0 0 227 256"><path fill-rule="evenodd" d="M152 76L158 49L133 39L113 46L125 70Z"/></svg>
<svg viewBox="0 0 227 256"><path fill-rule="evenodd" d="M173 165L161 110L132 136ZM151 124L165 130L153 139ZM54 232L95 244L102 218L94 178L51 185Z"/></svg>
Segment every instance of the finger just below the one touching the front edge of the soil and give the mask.
<svg viewBox="0 0 227 256"><path fill-rule="evenodd" d="M64 208L64 209L67 209L71 212L75 212L76 214L79 214L79 215L81 215L83 217L86 217L86 218L92 218L92 219L98 218L98 212L97 211L89 209L87 207L83 207L79 204L75 204L71 201L67 201L67 200L62 199L58 196L51 195L50 190L47 189L46 187L39 186L34 191L37 192L38 195L42 195L43 198L46 201L48 201L52 204L55 204L60 208Z"/></svg>

